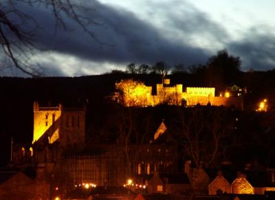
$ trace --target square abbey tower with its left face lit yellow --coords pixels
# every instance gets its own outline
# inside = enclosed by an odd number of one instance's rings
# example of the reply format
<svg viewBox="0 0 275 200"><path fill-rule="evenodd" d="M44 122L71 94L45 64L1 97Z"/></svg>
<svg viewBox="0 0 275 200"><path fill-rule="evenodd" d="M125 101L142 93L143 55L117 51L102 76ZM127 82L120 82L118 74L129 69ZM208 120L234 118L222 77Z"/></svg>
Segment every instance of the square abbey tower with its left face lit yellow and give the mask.
<svg viewBox="0 0 275 200"><path fill-rule="evenodd" d="M61 146L83 144L85 140L85 109L40 107L34 102L34 142L58 141Z"/></svg>

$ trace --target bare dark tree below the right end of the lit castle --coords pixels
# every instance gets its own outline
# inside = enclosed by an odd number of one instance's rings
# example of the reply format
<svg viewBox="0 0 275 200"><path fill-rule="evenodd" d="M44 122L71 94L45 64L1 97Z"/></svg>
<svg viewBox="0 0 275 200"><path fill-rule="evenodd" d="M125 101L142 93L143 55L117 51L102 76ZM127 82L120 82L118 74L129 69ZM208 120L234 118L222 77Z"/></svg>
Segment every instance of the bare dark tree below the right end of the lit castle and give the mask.
<svg viewBox="0 0 275 200"><path fill-rule="evenodd" d="M176 141L182 146L181 155L192 159L195 166L215 167L223 157L224 140L232 132L233 118L225 109L178 109L175 126Z"/></svg>

